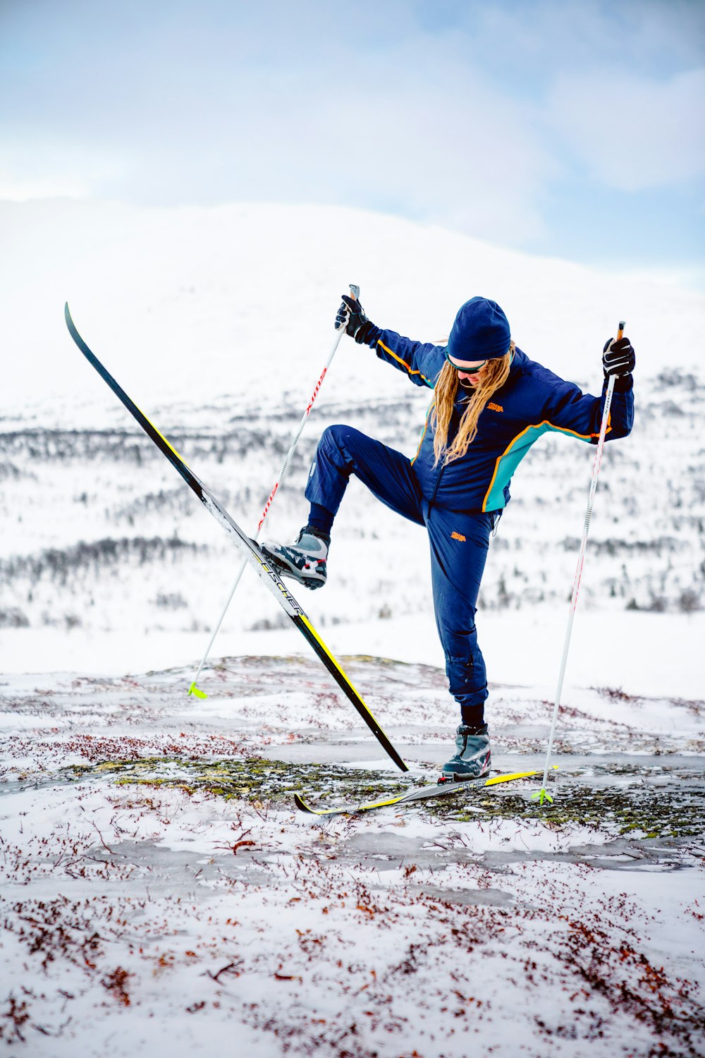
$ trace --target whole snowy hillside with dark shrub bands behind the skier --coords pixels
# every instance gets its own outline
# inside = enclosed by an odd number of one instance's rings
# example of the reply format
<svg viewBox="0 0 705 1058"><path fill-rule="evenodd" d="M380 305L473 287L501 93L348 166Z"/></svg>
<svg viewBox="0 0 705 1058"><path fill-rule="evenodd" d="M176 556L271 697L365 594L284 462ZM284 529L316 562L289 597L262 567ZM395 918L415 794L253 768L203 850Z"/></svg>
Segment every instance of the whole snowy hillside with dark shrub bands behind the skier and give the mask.
<svg viewBox="0 0 705 1058"><path fill-rule="evenodd" d="M703 605L699 295L350 209L4 203L0 221L12 247L2 276L12 355L0 399L0 644L15 657L25 630L69 630L74 646L100 632L120 633L124 644L134 632L194 632L198 656L237 565L230 542L73 346L67 297L89 344L244 527L259 518L348 281L360 282L371 318L426 340L447 332L469 294L490 294L525 351L592 391L602 341L624 316L638 358L636 424L607 448L581 606ZM304 518L305 470L327 423L350 422L411 454L427 403L427 391L344 340L265 537ZM493 543L486 613L544 604L562 618L592 456L558 437L524 460ZM322 625L430 608L423 534L356 482L331 568L326 592L305 599ZM279 621L266 594L244 585L225 633ZM93 651L86 638L87 663Z"/></svg>

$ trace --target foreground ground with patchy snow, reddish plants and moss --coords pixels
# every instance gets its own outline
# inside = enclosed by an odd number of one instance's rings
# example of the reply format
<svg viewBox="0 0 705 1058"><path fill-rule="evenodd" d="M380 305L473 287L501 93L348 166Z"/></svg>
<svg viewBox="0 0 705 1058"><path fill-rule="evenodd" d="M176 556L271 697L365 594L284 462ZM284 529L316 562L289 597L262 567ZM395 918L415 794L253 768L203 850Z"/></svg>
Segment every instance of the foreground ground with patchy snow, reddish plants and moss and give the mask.
<svg viewBox="0 0 705 1058"><path fill-rule="evenodd" d="M346 659L410 777L315 659L2 687L0 1032L17 1053L702 1053L705 704L585 691L537 781L319 821L432 780L443 674ZM550 703L493 689L495 763Z"/></svg>

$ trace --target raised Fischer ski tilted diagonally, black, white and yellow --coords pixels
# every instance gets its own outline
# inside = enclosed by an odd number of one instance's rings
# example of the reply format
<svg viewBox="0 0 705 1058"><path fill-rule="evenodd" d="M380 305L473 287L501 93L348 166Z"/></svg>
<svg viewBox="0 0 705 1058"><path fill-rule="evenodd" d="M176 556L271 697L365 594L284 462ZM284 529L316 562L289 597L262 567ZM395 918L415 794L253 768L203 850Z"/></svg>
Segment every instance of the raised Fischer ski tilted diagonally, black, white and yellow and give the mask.
<svg viewBox="0 0 705 1058"><path fill-rule="evenodd" d="M333 679L336 681L340 690L345 693L348 699L353 704L359 715L363 717L369 729L377 738L377 742L387 751L389 756L402 771L408 771L409 768L404 760L396 752L391 742L382 730L376 719L370 712L369 708L365 705L365 701L355 690L353 685L350 682L345 672L340 668L340 664L334 656L331 654L330 650L322 641L311 621L304 614L301 606L291 594L285 584L282 583L279 573L273 564L266 561L258 546L246 535L240 528L240 526L230 517L224 507L219 504L209 489L201 481L196 474L186 464L185 460L179 455L177 450L172 448L167 441L166 437L159 432L156 426L154 426L147 416L140 411L137 405L132 401L120 385L115 381L112 375L106 370L97 357L89 349L84 342L82 338L76 330L76 325L71 318L71 313L69 311L69 303L67 302L63 310L67 327L69 328L69 333L72 339L84 353L86 359L90 364L96 369L100 378L108 383L115 396L123 402L125 407L128 409L130 415L136 419L145 433L151 437L156 444L157 449L167 457L169 462L175 470L179 471L189 489L196 493L203 506L212 514L218 523L225 529L226 532L233 536L237 547L243 554L245 559L254 566L260 580L262 580L268 589L274 595L275 599L284 610L284 613L291 618L292 622L299 630L303 638L311 644L316 655L323 662L328 671L330 672Z"/></svg>

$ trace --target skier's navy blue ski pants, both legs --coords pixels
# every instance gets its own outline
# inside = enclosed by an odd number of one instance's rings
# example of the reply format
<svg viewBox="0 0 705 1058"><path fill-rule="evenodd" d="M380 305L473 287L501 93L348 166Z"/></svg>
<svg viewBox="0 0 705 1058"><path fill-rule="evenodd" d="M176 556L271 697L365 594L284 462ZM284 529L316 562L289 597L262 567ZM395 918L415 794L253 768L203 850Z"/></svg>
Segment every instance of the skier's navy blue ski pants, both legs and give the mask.
<svg viewBox="0 0 705 1058"><path fill-rule="evenodd" d="M487 697L487 676L475 615L489 534L501 512L438 507L422 496L407 456L352 426L329 426L311 466L307 499L336 514L352 474L387 507L426 526L435 624L450 693L461 708L476 711Z"/></svg>

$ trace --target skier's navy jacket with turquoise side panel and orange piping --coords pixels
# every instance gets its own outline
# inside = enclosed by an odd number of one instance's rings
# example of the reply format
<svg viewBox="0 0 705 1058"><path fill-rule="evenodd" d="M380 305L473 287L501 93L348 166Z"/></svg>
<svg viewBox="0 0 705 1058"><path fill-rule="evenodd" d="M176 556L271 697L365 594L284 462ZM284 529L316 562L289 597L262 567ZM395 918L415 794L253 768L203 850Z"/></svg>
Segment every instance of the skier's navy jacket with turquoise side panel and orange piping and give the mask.
<svg viewBox="0 0 705 1058"><path fill-rule="evenodd" d="M377 357L404 371L419 386L433 388L445 364L443 346L422 344L395 331L374 328L368 345ZM459 387L460 389L460 387ZM633 382L612 397L607 440L626 437L634 420ZM480 413L478 433L461 458L447 466L433 466L431 406L419 450L411 460L422 495L429 503L451 511L496 511L509 501L509 481L530 448L542 434L554 431L596 444L605 407L607 382L601 397L583 394L574 383L530 360L517 349L509 376ZM460 390L450 421L448 440L456 435L465 409L466 394Z"/></svg>

